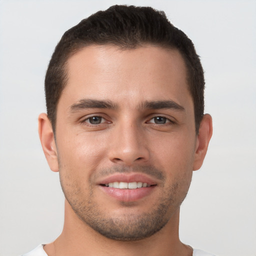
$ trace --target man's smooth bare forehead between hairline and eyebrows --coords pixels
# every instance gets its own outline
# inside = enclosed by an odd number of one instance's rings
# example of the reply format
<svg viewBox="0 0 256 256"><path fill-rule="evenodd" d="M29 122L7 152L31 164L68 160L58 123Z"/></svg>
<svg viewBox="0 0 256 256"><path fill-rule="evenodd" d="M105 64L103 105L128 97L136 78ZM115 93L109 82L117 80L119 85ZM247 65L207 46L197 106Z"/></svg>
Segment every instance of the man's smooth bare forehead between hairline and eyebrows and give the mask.
<svg viewBox="0 0 256 256"><path fill-rule="evenodd" d="M120 104L172 97L179 103L189 94L186 66L176 49L90 45L68 59L66 70L67 83L60 100L65 97L70 104L88 97Z"/></svg>

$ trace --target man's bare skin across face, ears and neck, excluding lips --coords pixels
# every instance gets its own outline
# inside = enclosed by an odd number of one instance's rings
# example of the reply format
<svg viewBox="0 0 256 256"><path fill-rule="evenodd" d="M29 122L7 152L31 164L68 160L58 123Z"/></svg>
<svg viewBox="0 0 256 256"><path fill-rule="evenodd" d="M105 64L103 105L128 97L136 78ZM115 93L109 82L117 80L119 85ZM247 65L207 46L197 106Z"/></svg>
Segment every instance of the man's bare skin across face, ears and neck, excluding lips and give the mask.
<svg viewBox="0 0 256 256"><path fill-rule="evenodd" d="M66 198L63 231L46 253L191 256L179 240L179 207L203 162L212 123L205 114L196 134L180 53L91 45L70 57L67 71L56 140L47 115L38 118L42 148ZM100 122L90 123L92 116ZM116 173L141 174L154 186L138 199L115 198L100 182Z"/></svg>

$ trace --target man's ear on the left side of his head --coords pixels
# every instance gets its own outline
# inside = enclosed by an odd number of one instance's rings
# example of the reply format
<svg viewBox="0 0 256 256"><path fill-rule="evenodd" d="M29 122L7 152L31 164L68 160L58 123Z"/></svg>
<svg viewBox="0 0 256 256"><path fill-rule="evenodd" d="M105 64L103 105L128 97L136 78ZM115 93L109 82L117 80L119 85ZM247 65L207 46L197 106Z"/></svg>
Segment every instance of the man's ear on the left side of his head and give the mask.
<svg viewBox="0 0 256 256"><path fill-rule="evenodd" d="M42 150L52 171L58 171L57 149L51 122L45 113L38 116L38 133Z"/></svg>

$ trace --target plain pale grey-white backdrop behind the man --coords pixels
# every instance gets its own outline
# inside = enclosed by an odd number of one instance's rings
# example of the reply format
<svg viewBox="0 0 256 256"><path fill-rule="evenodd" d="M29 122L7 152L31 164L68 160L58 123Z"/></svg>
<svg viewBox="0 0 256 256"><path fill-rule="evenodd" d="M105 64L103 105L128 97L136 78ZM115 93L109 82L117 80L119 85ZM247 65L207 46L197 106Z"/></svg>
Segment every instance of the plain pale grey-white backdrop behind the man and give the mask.
<svg viewBox="0 0 256 256"><path fill-rule="evenodd" d="M219 256L255 256L255 0L0 1L0 256L61 232L58 174L37 135L44 74L62 33L115 3L164 10L192 39L205 70L214 133L181 206L181 240Z"/></svg>

